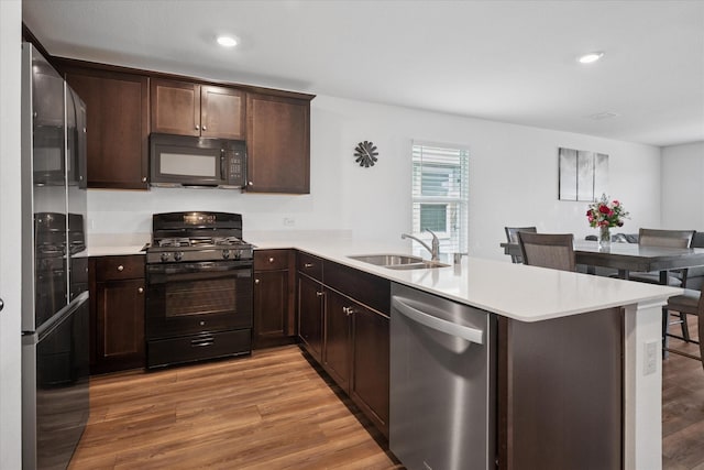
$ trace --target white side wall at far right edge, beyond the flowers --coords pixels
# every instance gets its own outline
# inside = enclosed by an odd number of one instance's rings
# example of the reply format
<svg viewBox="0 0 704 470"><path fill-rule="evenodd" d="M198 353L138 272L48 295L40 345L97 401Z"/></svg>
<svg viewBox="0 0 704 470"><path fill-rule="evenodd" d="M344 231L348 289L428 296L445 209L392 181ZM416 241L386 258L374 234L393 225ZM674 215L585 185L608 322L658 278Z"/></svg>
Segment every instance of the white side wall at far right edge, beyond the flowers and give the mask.
<svg viewBox="0 0 704 470"><path fill-rule="evenodd" d="M704 142L662 149L662 225L704 231Z"/></svg>

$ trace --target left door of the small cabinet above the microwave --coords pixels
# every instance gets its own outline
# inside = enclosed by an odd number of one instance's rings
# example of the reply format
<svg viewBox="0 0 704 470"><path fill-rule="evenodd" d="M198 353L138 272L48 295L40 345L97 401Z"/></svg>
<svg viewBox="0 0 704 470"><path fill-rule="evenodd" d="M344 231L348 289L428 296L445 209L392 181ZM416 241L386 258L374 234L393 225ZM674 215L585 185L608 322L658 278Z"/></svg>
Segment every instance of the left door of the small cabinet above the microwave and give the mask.
<svg viewBox="0 0 704 470"><path fill-rule="evenodd" d="M152 132L200 135L200 85L152 79Z"/></svg>

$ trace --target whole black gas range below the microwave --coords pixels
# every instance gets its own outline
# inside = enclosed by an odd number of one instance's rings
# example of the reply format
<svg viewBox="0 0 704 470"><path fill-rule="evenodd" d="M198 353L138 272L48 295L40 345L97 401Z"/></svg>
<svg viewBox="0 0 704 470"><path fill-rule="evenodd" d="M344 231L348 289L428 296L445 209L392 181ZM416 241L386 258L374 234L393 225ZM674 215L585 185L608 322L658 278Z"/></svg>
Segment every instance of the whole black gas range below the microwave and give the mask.
<svg viewBox="0 0 704 470"><path fill-rule="evenodd" d="M147 369L251 352L253 247L241 215L153 215L146 286Z"/></svg>

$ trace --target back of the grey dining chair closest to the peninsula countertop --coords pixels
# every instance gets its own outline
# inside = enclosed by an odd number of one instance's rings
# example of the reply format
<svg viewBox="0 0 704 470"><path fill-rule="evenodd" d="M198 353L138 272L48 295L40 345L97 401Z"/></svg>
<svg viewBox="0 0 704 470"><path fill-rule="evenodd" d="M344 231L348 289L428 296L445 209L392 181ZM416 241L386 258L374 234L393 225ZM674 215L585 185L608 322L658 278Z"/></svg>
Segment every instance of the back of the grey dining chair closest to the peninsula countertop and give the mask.
<svg viewBox="0 0 704 470"><path fill-rule="evenodd" d="M524 264L576 271L574 236L572 233L518 232Z"/></svg>

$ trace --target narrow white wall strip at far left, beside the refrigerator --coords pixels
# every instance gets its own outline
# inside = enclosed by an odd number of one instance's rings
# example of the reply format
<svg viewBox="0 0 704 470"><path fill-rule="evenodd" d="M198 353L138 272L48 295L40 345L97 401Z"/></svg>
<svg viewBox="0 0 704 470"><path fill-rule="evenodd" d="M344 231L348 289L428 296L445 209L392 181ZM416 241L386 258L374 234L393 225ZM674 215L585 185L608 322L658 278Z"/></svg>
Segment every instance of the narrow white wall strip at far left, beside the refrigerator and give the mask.
<svg viewBox="0 0 704 470"><path fill-rule="evenodd" d="M20 0L0 0L0 469L21 468Z"/></svg>

